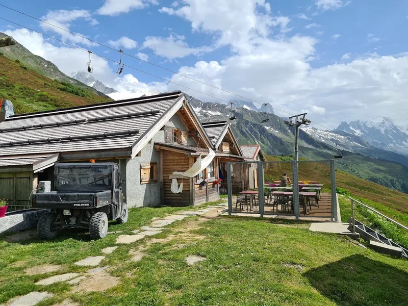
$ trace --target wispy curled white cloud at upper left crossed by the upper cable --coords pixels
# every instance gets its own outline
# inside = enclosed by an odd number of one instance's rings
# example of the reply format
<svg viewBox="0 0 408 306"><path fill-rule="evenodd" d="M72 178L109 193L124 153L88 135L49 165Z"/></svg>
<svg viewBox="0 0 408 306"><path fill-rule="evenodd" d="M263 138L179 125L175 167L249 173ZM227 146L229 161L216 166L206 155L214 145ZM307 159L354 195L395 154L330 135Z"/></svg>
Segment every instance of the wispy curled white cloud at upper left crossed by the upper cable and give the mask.
<svg viewBox="0 0 408 306"><path fill-rule="evenodd" d="M53 27L52 25L44 23L44 22L40 22L40 27L43 30L53 31L55 33L58 33L59 35L61 35L62 40L67 41L67 42L82 43L86 45L95 45L94 43L90 42L87 39L84 39L77 35L73 35L73 34L66 32L66 31L70 31L71 22L77 19L85 19L89 22L90 25L98 24L98 21L92 17L92 14L89 11L86 11L86 10L72 10L72 11L57 10L57 11L48 11L48 13L45 16L41 17L41 20L44 20L50 24L56 25L58 28L61 28L61 29ZM75 34L79 34L85 37L85 35L81 33L75 33Z"/></svg>

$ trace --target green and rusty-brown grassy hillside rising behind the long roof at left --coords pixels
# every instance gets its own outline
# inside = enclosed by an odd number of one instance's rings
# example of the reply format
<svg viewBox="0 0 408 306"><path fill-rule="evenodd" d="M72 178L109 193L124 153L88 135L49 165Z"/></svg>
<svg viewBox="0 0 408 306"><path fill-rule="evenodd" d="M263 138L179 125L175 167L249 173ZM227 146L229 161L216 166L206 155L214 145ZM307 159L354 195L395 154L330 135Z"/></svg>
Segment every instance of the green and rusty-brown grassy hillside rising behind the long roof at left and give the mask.
<svg viewBox="0 0 408 306"><path fill-rule="evenodd" d="M11 100L16 114L111 101L93 90L54 81L24 64L0 56L0 97ZM90 88L90 87L89 87Z"/></svg>

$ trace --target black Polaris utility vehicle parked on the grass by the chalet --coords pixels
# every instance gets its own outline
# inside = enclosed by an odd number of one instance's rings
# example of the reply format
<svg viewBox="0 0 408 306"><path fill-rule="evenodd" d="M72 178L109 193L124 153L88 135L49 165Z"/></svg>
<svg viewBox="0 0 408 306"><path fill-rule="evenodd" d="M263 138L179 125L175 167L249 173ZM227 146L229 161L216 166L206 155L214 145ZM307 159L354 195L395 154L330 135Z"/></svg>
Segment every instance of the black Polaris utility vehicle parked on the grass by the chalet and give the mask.
<svg viewBox="0 0 408 306"><path fill-rule="evenodd" d="M33 195L33 207L50 209L37 225L38 237L53 239L63 228L86 228L92 239L104 238L108 220L127 221L115 163L61 163L54 167L54 190Z"/></svg>

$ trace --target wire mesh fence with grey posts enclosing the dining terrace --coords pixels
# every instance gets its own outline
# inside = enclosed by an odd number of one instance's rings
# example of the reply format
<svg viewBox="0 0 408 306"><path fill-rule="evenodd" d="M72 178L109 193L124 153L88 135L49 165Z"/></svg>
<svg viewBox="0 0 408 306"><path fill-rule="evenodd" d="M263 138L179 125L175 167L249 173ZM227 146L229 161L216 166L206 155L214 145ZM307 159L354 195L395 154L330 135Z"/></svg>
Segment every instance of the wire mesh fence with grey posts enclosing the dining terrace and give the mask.
<svg viewBox="0 0 408 306"><path fill-rule="evenodd" d="M337 221L334 161L237 162L228 169L230 214Z"/></svg>

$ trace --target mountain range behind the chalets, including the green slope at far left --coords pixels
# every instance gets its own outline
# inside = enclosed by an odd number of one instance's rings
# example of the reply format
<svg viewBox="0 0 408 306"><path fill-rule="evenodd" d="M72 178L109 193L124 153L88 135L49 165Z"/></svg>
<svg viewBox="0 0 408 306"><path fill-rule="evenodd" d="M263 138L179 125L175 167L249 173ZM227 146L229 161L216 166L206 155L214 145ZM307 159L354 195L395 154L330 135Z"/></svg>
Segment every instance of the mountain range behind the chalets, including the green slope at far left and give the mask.
<svg viewBox="0 0 408 306"><path fill-rule="evenodd" d="M72 79L53 63L33 55L18 43L16 46L2 48L2 51L3 49L4 55L12 61L0 57L4 67L3 72L0 72L4 77L0 81L7 83L0 86L0 91L3 97L15 103L16 113L52 110L109 99L100 90L110 91L110 95L121 94L98 82L86 72L75 73L73 76L87 85ZM15 75L16 71L19 71L18 75ZM55 79L58 82L54 81ZM95 84L97 89L91 87ZM21 92L19 86L23 86L24 92ZM13 87L16 88L10 94L10 88ZM95 93L99 98L94 96ZM228 115L231 113L229 105L203 102L189 95L186 97L203 122L229 121ZM230 122L240 144L259 143L268 155L289 156L293 153L294 131L285 124L284 119L273 113L270 104L265 109L265 106L256 107L251 101L236 100L233 110L237 119ZM262 122L264 119L268 120ZM383 122L384 120L376 122L377 124L350 123L351 127L347 123L342 123L336 131L303 127L299 132L299 156L312 161L333 159L333 155L337 155L335 146L338 143L338 149L343 150L345 157L336 162L338 168L362 179L408 193L408 156L381 148L388 148L387 145L393 143L385 138L389 134L401 147L405 141L402 130L392 126L392 120L388 119L386 122ZM348 130L346 124L349 126ZM370 135L374 130L377 138Z"/></svg>

